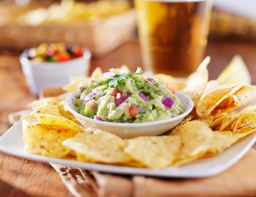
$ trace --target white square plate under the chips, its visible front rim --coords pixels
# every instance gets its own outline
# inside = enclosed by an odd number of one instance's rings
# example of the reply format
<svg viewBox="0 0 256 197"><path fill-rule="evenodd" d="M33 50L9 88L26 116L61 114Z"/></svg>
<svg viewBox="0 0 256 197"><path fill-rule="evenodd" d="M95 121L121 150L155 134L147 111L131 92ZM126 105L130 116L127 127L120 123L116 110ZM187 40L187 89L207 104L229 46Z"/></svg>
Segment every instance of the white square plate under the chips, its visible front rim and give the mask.
<svg viewBox="0 0 256 197"><path fill-rule="evenodd" d="M67 159L26 154L23 152L24 143L22 140L21 121L12 126L3 136L0 137L0 150L6 153L44 162L54 162L64 165L77 166L87 170L96 170L116 174L143 174L155 177L182 177L200 178L209 177L227 170L250 149L256 142L256 133L241 139L239 142L228 148L223 153L210 158L198 159L197 161L182 167L168 167L163 170L150 170L144 168L119 167L113 165L93 164L77 162Z"/></svg>

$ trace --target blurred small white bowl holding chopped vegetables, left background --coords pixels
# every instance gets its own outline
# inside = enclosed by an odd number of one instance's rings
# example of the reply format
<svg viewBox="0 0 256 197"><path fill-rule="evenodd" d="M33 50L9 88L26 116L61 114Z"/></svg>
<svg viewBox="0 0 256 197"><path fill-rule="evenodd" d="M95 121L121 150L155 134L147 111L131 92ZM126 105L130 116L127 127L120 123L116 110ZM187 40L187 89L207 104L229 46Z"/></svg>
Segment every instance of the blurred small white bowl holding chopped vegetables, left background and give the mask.
<svg viewBox="0 0 256 197"><path fill-rule="evenodd" d="M84 55L64 62L43 62L35 64L27 58L26 52L20 55L23 74L33 95L41 88L62 87L69 83L69 76L88 76L91 54L84 49Z"/></svg>

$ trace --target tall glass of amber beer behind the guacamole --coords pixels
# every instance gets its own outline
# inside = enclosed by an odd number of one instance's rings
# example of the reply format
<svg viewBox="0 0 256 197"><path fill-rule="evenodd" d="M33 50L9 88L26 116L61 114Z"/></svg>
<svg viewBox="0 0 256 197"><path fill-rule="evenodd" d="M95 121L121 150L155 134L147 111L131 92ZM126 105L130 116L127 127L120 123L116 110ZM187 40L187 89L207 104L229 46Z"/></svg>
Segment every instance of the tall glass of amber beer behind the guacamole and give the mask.
<svg viewBox="0 0 256 197"><path fill-rule="evenodd" d="M186 77L204 56L212 0L134 0L145 70Z"/></svg>

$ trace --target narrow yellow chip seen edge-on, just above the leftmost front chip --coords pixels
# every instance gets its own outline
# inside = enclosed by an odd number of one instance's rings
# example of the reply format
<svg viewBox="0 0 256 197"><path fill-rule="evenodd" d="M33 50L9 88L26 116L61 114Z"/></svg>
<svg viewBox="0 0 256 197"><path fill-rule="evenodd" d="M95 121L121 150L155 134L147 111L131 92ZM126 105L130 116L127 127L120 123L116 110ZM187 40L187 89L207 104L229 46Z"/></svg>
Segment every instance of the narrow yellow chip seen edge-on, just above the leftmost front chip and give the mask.
<svg viewBox="0 0 256 197"><path fill-rule="evenodd" d="M83 128L81 128L79 125L77 125L75 122L66 119L62 116L53 116L51 114L44 114L44 113L38 113L34 115L36 119L38 119L38 122L40 124L44 125L55 125L60 128L67 128L67 129L72 129L75 131L81 131Z"/></svg>

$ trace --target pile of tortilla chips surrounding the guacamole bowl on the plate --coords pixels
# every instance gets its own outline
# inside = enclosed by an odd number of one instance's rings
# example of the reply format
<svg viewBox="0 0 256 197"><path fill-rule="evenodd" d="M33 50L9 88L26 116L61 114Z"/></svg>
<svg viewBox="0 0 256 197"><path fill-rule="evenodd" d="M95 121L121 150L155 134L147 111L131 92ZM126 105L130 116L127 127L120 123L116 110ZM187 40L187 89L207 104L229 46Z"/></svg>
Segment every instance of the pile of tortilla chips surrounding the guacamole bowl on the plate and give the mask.
<svg viewBox="0 0 256 197"><path fill-rule="evenodd" d="M194 102L192 112L166 135L121 139L99 129L84 128L66 109L64 99L51 97L32 102L33 112L23 116L24 150L81 162L151 169L185 165L221 153L256 131L250 126L256 122L256 106L236 111L256 98L256 86L208 82L208 63L209 57L186 79L143 73L177 84ZM115 73L126 71L126 66L111 69ZM73 92L100 77L102 71L97 68L90 78L71 78L64 90Z"/></svg>

